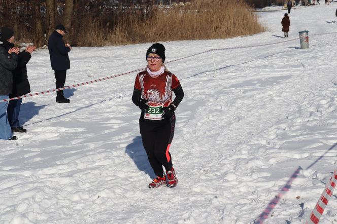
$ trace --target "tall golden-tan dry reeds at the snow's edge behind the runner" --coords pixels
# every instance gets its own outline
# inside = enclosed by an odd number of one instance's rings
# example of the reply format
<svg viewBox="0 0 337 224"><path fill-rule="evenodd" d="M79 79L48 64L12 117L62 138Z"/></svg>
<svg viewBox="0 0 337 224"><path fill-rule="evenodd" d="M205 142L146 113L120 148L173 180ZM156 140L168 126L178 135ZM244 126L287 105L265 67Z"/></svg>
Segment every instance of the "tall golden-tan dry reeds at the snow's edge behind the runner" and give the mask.
<svg viewBox="0 0 337 224"><path fill-rule="evenodd" d="M264 31L241 0L195 0L183 7L130 9L119 14L112 28L103 27L98 21L89 22L86 27L90 33L81 33L78 45L225 39Z"/></svg>

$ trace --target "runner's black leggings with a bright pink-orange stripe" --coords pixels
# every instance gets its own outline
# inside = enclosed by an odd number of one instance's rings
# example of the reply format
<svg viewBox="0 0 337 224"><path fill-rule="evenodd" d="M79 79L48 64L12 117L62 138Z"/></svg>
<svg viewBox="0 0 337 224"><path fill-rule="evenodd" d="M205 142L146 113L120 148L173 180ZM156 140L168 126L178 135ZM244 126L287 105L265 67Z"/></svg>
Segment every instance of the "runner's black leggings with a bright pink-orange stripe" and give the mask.
<svg viewBox="0 0 337 224"><path fill-rule="evenodd" d="M168 150L174 136L175 124L175 115L170 121L146 121L142 118L139 120L143 146L156 176L163 176L163 166L166 171L173 166Z"/></svg>

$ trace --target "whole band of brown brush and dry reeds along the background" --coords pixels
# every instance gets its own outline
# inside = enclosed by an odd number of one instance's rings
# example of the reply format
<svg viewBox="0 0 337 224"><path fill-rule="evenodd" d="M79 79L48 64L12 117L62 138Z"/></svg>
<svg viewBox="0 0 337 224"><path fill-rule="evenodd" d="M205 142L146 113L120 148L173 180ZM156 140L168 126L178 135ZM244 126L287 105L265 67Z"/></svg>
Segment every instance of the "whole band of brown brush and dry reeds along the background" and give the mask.
<svg viewBox="0 0 337 224"><path fill-rule="evenodd" d="M55 1L55 23L61 23L64 1ZM155 6L154 2L157 0L74 1L72 24L65 41L93 47L224 39L263 31L244 0L191 0L190 5L177 7ZM36 40L35 33L40 27L38 38L43 40L35 44L46 44L50 27L45 0L0 0L0 3L2 26L14 29L18 43ZM38 24L37 16L41 16L41 24Z"/></svg>

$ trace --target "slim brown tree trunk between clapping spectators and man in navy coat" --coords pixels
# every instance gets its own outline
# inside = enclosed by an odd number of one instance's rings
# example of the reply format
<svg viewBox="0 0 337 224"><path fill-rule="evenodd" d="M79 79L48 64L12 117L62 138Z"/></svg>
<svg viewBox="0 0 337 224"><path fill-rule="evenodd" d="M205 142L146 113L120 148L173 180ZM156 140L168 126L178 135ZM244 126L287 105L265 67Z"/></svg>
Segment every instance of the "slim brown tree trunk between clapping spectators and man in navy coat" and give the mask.
<svg viewBox="0 0 337 224"><path fill-rule="evenodd" d="M45 36L43 35L42 31L42 19L41 19L41 6L40 6L40 0L34 0L34 15L35 15L35 21L34 21L34 44L36 47L42 47L46 43Z"/></svg>

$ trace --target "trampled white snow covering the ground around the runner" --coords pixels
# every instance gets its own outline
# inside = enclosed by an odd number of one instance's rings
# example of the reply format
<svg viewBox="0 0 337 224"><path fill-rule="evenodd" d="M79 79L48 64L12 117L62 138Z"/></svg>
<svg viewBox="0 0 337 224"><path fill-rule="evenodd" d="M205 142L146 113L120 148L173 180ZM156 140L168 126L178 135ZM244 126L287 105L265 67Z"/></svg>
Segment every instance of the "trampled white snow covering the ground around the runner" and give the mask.
<svg viewBox="0 0 337 224"><path fill-rule="evenodd" d="M185 92L174 189L148 189L136 73L65 90L70 104L24 99L28 132L0 141L0 223L254 223L299 167L264 223L305 223L336 168L337 35L313 35L337 31L336 6L292 10L289 42L213 52L216 72L212 53L167 64ZM282 42L285 12L258 13L264 33L163 43L166 61ZM73 48L66 85L145 67L149 46ZM48 50L27 67L32 92L54 88ZM337 223L336 207L334 194L320 223Z"/></svg>

